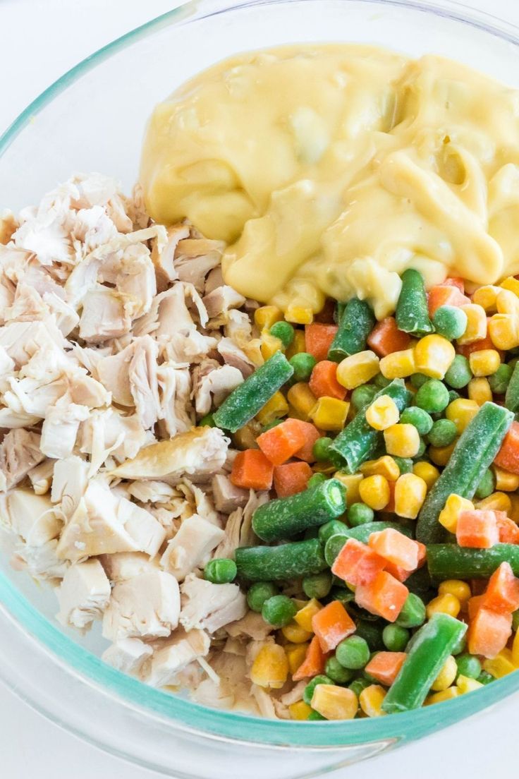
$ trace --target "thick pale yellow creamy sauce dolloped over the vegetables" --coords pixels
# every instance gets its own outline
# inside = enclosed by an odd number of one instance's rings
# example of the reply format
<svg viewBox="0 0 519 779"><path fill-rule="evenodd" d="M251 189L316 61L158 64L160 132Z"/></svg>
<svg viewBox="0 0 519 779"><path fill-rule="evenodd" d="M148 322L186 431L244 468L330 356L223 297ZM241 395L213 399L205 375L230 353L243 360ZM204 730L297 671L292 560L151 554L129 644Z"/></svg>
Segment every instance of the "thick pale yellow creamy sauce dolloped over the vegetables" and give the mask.
<svg viewBox="0 0 519 779"><path fill-rule="evenodd" d="M276 48L220 62L158 105L142 152L151 216L226 241L227 284L318 311L395 308L399 274L519 273L519 92L458 62Z"/></svg>

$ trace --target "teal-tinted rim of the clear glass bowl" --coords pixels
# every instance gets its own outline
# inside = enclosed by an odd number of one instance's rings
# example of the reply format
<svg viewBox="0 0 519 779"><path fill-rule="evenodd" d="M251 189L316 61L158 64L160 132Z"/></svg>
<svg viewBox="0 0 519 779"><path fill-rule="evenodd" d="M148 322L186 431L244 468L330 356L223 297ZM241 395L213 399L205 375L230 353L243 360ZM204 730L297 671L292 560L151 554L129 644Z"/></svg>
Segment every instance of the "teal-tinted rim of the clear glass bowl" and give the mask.
<svg viewBox="0 0 519 779"><path fill-rule="evenodd" d="M16 140L16 136L31 119L40 113L54 97L71 86L90 69L105 59L127 48L143 37L156 33L167 26L177 25L184 19L202 19L219 13L245 9L255 5L288 5L293 2L315 2L315 0L191 0L100 48L93 55L79 62L65 72L61 78L33 100L8 129L0 136L0 157ZM434 16L445 16L468 26L500 37L503 41L519 47L519 27L487 12L482 12L456 0L335 0L345 5L349 2L364 2L366 5L388 5L409 8ZM6 204L7 205L7 204ZM454 723L493 705L519 689L519 673L497 679L491 685L480 689L477 695L460 696L454 700L436 704L398 716L380 717L345 722L297 722L283 720L262 720L234 712L202 707L177 696L163 693L136 679L110 668L99 657L83 649L54 627L40 614L11 581L0 573L0 608L12 623L22 631L28 640L33 640L38 649L50 655L61 664L64 671L80 675L82 680L94 686L103 696L118 699L121 704L146 714L159 716L178 728L188 729L205 735L230 738L254 744L296 746L300 748L322 748L364 744L379 739L399 738L409 731L420 733L430 731L431 721L443 724ZM2 669L0 669L2 676ZM9 679L2 677L9 687ZM243 738L242 734L254 734Z"/></svg>

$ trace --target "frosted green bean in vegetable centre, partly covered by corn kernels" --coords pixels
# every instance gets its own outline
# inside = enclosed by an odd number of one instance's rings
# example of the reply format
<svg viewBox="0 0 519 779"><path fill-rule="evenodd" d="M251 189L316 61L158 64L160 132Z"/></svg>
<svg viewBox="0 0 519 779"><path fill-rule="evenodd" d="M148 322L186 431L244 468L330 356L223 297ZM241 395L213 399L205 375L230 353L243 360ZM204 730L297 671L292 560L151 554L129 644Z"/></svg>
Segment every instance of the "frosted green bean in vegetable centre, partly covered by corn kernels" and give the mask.
<svg viewBox="0 0 519 779"><path fill-rule="evenodd" d="M382 395L389 395L401 414L411 401L411 393L406 390L402 379L394 379L377 392L375 398ZM373 459L377 449L384 444L384 435L380 431L373 430L366 422L366 409L367 407L364 407L359 411L349 425L338 434L330 447L332 452L336 452L345 460L351 474L356 473L363 462Z"/></svg>

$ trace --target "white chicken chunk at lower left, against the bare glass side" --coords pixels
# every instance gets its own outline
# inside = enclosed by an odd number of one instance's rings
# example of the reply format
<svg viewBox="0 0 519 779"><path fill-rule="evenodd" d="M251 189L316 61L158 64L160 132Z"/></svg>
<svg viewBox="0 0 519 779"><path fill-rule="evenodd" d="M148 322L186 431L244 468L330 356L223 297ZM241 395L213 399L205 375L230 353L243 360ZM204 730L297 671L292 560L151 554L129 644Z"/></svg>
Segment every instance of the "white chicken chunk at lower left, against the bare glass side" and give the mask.
<svg viewBox="0 0 519 779"><path fill-rule="evenodd" d="M58 622L87 630L100 619L110 600L110 582L99 560L86 560L70 566L57 590Z"/></svg>

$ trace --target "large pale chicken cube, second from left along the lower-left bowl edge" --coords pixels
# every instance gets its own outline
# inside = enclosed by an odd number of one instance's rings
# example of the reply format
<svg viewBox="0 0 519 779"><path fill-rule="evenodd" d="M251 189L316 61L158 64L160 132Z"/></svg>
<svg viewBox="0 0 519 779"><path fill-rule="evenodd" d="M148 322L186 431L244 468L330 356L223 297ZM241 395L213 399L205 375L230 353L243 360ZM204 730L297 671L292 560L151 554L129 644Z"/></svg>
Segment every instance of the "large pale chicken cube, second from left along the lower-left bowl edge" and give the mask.
<svg viewBox="0 0 519 779"><path fill-rule="evenodd" d="M103 636L110 641L169 636L180 613L174 576L164 571L141 573L115 585L103 616Z"/></svg>

